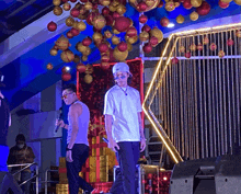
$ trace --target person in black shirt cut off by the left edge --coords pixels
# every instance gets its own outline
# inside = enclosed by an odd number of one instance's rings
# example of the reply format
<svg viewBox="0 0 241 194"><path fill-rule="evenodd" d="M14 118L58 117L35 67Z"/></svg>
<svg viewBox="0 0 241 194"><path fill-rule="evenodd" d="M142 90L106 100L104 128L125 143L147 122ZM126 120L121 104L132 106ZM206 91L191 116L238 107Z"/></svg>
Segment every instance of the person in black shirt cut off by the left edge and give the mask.
<svg viewBox="0 0 241 194"><path fill-rule="evenodd" d="M7 191L11 191L14 194L21 194L22 190L8 172L7 160L9 156L9 147L7 146L7 137L9 126L11 125L11 115L8 102L1 92L3 84L3 75L0 71L0 194L5 194Z"/></svg>

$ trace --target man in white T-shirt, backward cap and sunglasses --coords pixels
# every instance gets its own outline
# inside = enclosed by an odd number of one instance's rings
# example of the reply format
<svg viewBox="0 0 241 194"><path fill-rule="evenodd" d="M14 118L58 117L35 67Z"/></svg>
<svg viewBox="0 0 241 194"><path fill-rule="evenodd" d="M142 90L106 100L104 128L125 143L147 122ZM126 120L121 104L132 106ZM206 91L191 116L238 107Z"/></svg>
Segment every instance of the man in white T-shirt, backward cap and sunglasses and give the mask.
<svg viewBox="0 0 241 194"><path fill-rule="evenodd" d="M104 115L108 148L116 152L120 173L110 192L135 194L136 164L146 148L140 94L128 85L133 75L127 64L116 64L113 76L116 84L105 94Z"/></svg>

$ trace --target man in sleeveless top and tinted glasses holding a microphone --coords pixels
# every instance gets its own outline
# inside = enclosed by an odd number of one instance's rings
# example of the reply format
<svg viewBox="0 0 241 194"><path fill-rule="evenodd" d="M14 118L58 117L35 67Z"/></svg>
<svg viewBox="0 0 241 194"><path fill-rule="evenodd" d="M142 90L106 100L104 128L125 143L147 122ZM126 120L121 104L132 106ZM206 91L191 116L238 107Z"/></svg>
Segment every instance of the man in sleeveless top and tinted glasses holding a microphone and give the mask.
<svg viewBox="0 0 241 194"><path fill-rule="evenodd" d="M78 194L81 187L85 194L94 190L85 180L79 176L82 166L89 157L88 128L90 122L89 107L77 96L76 84L64 85L62 100L69 106L68 124L57 119L56 125L68 129L66 166L70 194Z"/></svg>

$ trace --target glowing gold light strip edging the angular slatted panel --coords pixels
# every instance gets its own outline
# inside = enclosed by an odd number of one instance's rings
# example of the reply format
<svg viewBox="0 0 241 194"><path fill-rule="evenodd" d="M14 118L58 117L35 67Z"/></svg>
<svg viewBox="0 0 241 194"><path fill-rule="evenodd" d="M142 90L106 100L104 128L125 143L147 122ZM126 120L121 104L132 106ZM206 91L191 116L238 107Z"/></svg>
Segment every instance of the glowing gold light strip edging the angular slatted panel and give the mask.
<svg viewBox="0 0 241 194"><path fill-rule="evenodd" d="M157 75L158 75L159 69L160 69L160 67L161 67L161 64L162 64L162 61L163 61L163 58L164 58L163 56L164 56L165 53L167 53L168 46L169 46L169 44L170 44L170 41L172 39L172 37L173 37L174 35L175 35L175 36L179 36L179 35L183 35L183 34L191 34L191 33L198 33L198 32L208 33L207 31L219 30L219 28L225 28L225 27L233 27L233 26L239 26L239 25L241 25L241 23L229 24L229 25L221 25L221 26L216 26L216 27L206 27L206 28L200 28L200 30L192 30L192 31L186 31L186 32L181 32L181 33L171 34L171 35L169 36L169 41L168 41L168 43L167 43L167 45L165 45L165 48L164 48L164 50L163 50L161 57L159 58L160 60L159 60L159 62L158 62L158 67L156 68L156 71L154 71L154 73L153 73L153 78L152 78L152 80L151 80L151 82L150 82L150 84L149 84L149 88L148 88L148 91L147 91L147 95L146 95L145 101L144 101L144 104L142 104L142 109L144 109L144 112L145 112L145 114L147 115L148 119L151 122L152 126L154 127L157 134L160 136L162 142L164 144L164 146L167 147L167 149L168 149L169 152L171 153L171 157L174 159L175 163L179 163L180 161L183 161L182 158L180 157L179 160L177 160L177 158L175 157L173 150L171 149L171 147L170 147L170 146L168 145L168 142L165 141L164 137L163 137L163 136L161 135L161 133L159 132L159 128L157 127L157 125L156 125L156 123L154 123L154 121L153 121L153 118L154 118L156 116L153 115L153 117L151 118L151 116L149 115L148 111L147 111L146 107L145 107L145 104L146 104L146 102L147 102L147 99L148 99L148 96L149 96L149 94L150 94L150 91L151 91L151 89L152 89L152 87L153 87L153 83L154 83L154 80L156 80L156 78L157 78ZM226 30L226 31L227 31L227 30ZM145 58L146 58L146 57L145 57ZM209 57L209 58L210 58L210 57ZM168 61L170 62L171 57L169 57L168 59L169 59ZM165 60L167 60L167 58L165 58ZM167 69L169 62L165 62L164 69L163 69L163 71L161 71L161 75L164 73L164 71L165 71L165 69ZM161 76L161 78L162 78L162 76ZM160 81L159 83L161 83L161 81ZM159 84L159 85L160 85L160 84ZM156 88L156 90L157 90L157 88ZM151 104L151 103L150 103L150 104ZM149 109L149 111L151 112L151 110L150 110L150 104L149 104L149 107L148 107L148 109ZM158 123L158 122L157 122L157 123ZM172 142L171 142L171 144L172 144ZM174 147L174 146L173 146L173 147ZM175 150L175 148L174 148L174 150ZM176 151L176 152L177 152L177 151ZM179 153L179 152L177 152L177 153ZM180 156L180 155L179 155L179 156Z"/></svg>

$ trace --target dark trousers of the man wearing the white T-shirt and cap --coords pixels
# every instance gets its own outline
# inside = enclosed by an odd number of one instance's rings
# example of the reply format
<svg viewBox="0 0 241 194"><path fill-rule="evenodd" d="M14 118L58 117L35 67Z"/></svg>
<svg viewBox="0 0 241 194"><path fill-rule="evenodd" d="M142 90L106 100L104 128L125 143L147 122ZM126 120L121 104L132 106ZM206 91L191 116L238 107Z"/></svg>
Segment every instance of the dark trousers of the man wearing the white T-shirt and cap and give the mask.
<svg viewBox="0 0 241 194"><path fill-rule="evenodd" d="M112 194L136 194L136 164L140 157L139 141L118 142L119 150L116 158L119 164L120 173L117 174L111 189Z"/></svg>

